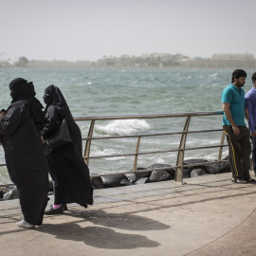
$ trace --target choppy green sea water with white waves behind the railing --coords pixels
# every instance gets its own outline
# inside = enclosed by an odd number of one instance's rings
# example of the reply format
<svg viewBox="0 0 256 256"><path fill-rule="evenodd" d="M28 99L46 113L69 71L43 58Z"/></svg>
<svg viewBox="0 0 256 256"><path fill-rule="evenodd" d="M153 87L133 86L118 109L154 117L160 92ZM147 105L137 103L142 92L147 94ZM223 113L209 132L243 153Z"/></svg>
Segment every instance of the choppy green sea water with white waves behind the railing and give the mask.
<svg viewBox="0 0 256 256"><path fill-rule="evenodd" d="M10 103L9 82L22 77L34 82L36 97L44 104L46 86L58 86L74 117L135 114L165 114L222 110L221 92L231 82L229 69L135 69L135 68L0 68L0 109ZM247 92L254 71L247 70ZM94 137L181 132L185 118L117 119L96 121ZM78 122L86 137L90 122ZM222 116L192 118L190 131L221 129ZM191 134L187 148L218 145L222 133ZM179 136L142 137L139 152L174 150ZM93 140L91 156L133 154L137 138ZM84 149L84 143L83 143ZM224 156L228 148L224 148ZM176 163L176 153L139 155L137 166ZM187 151L185 159L217 160L218 148ZM29 161L29 156L27 156ZM127 172L133 169L133 156L90 159L91 174ZM0 163L5 163L0 149ZM0 168L0 184L9 183L6 167Z"/></svg>

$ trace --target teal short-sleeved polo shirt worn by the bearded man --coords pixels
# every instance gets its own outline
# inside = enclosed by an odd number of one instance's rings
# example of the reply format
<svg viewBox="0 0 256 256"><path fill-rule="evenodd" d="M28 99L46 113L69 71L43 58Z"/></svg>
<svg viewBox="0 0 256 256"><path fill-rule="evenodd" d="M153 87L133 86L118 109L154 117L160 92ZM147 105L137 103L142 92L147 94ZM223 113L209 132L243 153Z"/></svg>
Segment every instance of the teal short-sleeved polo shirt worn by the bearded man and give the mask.
<svg viewBox="0 0 256 256"><path fill-rule="evenodd" d="M237 88L233 83L229 84L221 94L222 103L230 104L232 118L236 125L247 126L245 122L245 91L243 88ZM229 120L223 114L223 125L231 125Z"/></svg>

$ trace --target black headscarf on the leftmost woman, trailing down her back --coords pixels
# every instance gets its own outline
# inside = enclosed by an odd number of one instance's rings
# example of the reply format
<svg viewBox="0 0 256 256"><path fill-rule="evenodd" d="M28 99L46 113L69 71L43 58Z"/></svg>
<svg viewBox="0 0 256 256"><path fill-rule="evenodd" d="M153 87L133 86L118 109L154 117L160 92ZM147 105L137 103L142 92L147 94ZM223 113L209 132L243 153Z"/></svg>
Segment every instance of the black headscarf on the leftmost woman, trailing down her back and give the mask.
<svg viewBox="0 0 256 256"><path fill-rule="evenodd" d="M41 129L44 126L44 112L43 105L35 98L36 92L33 82L27 82L23 78L17 78L9 82L11 103L16 101L25 101L29 108L32 119L35 121L37 127Z"/></svg>

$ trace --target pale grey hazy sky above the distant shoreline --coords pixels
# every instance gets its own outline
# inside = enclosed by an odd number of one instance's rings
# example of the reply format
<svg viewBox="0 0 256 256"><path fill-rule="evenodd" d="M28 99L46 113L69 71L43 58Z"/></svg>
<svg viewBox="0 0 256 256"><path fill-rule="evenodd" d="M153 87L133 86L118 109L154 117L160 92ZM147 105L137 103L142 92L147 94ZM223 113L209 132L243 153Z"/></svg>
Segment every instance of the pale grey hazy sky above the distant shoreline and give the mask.
<svg viewBox="0 0 256 256"><path fill-rule="evenodd" d="M0 0L0 58L252 53L255 0Z"/></svg>

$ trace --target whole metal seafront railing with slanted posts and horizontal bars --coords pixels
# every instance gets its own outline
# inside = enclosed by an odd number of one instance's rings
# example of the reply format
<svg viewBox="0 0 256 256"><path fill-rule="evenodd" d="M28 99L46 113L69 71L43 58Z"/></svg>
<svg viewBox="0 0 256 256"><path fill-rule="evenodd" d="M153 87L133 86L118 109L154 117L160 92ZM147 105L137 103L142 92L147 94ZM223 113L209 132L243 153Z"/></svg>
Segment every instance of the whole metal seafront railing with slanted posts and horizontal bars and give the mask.
<svg viewBox="0 0 256 256"><path fill-rule="evenodd" d="M189 131L191 119L194 117L205 117L205 116L219 116L223 115L223 111L215 111L215 112L190 112L190 113L173 113L173 114L154 114L154 115L127 115L127 116L98 116L98 117L75 117L76 121L90 121L90 127L88 131L87 137L82 138L82 140L86 140L83 158L87 165L89 165L89 160L93 158L107 158L107 157L123 157L123 156L134 156L134 167L133 172L122 172L122 173L111 173L111 174L136 174L136 173L144 173L144 172L152 172L152 171L162 171L162 170L175 170L174 180L177 182L183 183L183 167L184 167L184 155L185 151L190 150L198 150L198 149L210 149L210 148L218 148L218 160L217 161L209 161L204 162L204 165L212 164L212 163L220 163L226 162L222 160L222 152L224 145L225 135L222 133L222 137L220 138L220 144L214 146L204 146L204 147L193 147L186 149L186 139L188 134L202 134L202 133L212 133L212 132L222 132L223 129L211 129L211 130L197 130L197 131ZM173 132L173 133L159 133L159 134L146 134L146 135L127 135L127 136L105 136L105 137L93 137L94 127L96 121L99 120L117 120L117 119L167 119L167 118L187 118L185 121L184 128L181 132ZM151 152L139 152L140 139L141 137L159 137L159 136L172 136L172 135L180 135L180 143L179 147L174 150L165 150L165 151L151 151ZM92 140L99 139L110 139L110 138L127 138L127 137L137 137L137 144L135 146L135 152L129 154L119 154L119 155L94 155L90 156L91 152L91 144ZM155 168L155 169L145 169L142 171L137 171L137 158L139 155L152 155L152 154L162 154L162 153L172 153L177 152L176 157L176 165L170 168ZM0 166L4 166L5 164L1 164ZM200 166L202 163L194 163L194 164L186 164L186 167L192 166ZM110 174L99 174L92 175L92 177L103 176Z"/></svg>

